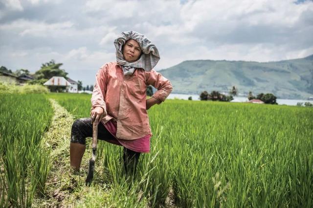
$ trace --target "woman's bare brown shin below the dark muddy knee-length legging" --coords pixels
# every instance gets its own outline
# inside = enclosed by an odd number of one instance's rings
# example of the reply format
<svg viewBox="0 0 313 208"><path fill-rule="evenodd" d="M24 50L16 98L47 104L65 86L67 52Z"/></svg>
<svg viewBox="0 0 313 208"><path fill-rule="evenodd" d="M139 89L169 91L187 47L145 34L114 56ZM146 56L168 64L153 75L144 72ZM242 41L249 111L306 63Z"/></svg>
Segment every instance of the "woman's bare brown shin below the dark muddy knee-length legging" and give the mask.
<svg viewBox="0 0 313 208"><path fill-rule="evenodd" d="M85 153L86 145L71 142L69 145L70 166L79 171L80 163L82 162L83 155Z"/></svg>

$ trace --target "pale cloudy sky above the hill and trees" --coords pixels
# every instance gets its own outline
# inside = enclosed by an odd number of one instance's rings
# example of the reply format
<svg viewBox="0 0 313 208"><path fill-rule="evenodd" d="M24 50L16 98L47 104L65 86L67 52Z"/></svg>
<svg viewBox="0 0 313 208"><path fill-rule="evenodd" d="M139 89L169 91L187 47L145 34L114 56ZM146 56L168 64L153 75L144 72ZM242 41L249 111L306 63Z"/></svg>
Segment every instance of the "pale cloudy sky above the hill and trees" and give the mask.
<svg viewBox="0 0 313 208"><path fill-rule="evenodd" d="M92 84L121 32L158 48L155 70L184 60L276 61L313 54L312 0L0 0L0 65L54 59Z"/></svg>

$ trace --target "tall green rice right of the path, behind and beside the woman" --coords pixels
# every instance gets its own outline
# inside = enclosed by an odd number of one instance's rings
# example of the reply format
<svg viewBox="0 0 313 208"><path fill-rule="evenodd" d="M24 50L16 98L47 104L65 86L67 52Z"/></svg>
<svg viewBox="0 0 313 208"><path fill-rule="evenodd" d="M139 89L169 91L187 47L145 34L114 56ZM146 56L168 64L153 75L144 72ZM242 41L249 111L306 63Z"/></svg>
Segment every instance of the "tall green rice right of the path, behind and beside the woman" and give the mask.
<svg viewBox="0 0 313 208"><path fill-rule="evenodd" d="M89 116L90 95L52 96ZM172 196L179 207L312 207L312 109L167 100L149 115L152 151L141 157L137 191L150 206ZM120 184L121 148L98 149L97 177Z"/></svg>

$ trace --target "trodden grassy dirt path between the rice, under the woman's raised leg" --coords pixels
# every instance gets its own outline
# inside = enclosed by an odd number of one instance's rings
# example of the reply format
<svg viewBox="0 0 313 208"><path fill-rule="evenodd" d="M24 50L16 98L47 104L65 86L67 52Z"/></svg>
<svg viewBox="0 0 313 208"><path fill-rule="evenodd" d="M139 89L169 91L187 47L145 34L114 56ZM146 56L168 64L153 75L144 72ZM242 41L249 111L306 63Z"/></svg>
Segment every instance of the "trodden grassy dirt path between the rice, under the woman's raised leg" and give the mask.
<svg viewBox="0 0 313 208"><path fill-rule="evenodd" d="M45 133L42 147L50 152L50 170L46 181L45 197L34 198L32 207L114 207L128 201L121 189L111 189L105 181L101 161L96 160L94 186L86 187L90 148L87 146L81 163L81 172L74 174L69 164L69 143L74 117L54 99L49 99L54 110L50 129ZM100 156L100 155L99 155ZM125 186L126 187L126 186ZM140 195L140 194L139 194ZM171 194L170 194L171 195ZM121 203L121 204L122 204ZM174 207L168 197L166 207ZM142 206L142 203L141 203ZM140 206L139 206L140 207ZM148 207L148 205L144 206Z"/></svg>

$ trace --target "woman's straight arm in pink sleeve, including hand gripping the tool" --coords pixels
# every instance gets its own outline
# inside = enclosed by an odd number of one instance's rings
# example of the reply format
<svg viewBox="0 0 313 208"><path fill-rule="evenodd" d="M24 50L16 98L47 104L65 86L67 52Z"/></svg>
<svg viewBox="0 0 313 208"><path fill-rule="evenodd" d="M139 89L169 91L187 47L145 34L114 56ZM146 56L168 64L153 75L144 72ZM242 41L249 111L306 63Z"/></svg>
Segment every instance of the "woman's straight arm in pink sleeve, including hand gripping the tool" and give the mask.
<svg viewBox="0 0 313 208"><path fill-rule="evenodd" d="M106 103L104 101L107 91L108 66L104 65L96 74L96 81L91 96L91 122L99 124L101 119L107 115Z"/></svg>

